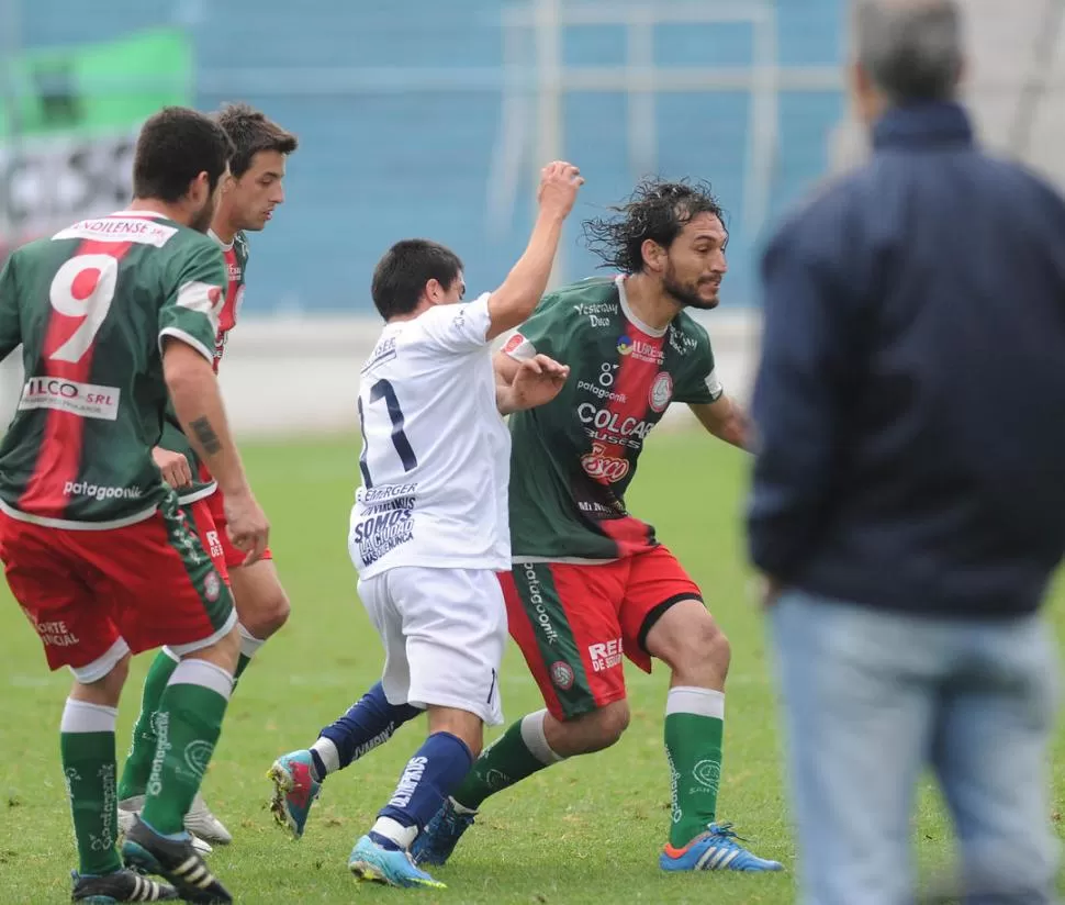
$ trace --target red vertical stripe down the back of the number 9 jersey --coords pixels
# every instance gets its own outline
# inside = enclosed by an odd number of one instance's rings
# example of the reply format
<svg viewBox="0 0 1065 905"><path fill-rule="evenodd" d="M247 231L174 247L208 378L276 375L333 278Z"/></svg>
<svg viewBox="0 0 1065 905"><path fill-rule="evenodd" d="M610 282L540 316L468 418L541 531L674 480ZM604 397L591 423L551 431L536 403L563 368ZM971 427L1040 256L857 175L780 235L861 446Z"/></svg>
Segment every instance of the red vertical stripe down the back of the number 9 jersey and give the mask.
<svg viewBox="0 0 1065 905"><path fill-rule="evenodd" d="M78 250L70 259L83 255L108 255L115 260L122 260L132 247L132 242L86 241L78 246ZM70 294L77 300L87 299L96 289L99 276L99 270L86 268L74 278ZM41 350L41 373L37 376L88 383L92 371L96 337L77 361L61 361L54 358L53 356L70 339L86 319L72 317L57 311L55 305L51 304L51 299L49 306L52 311L45 332L44 348ZM37 455L33 474L19 500L19 509L33 515L61 518L68 500L64 493L64 487L68 481L76 481L81 470L85 418L71 412L60 412L55 409L46 409L45 412L41 451Z"/></svg>

